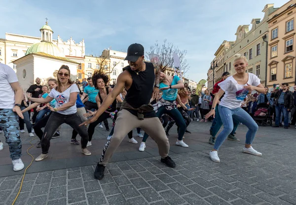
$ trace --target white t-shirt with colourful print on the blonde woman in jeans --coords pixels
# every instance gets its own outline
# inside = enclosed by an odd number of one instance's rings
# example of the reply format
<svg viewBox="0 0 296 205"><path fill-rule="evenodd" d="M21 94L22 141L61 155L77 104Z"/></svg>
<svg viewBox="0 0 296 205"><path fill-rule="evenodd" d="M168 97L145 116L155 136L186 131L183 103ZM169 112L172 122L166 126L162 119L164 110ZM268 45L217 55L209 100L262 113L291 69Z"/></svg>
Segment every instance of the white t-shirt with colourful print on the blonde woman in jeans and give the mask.
<svg viewBox="0 0 296 205"><path fill-rule="evenodd" d="M248 73L248 84L258 86L260 79L252 74ZM247 84L238 84L233 76L228 77L225 81L219 83L220 88L225 92L219 105L222 105L229 109L240 108L242 101L246 98L249 91L244 89Z"/></svg>

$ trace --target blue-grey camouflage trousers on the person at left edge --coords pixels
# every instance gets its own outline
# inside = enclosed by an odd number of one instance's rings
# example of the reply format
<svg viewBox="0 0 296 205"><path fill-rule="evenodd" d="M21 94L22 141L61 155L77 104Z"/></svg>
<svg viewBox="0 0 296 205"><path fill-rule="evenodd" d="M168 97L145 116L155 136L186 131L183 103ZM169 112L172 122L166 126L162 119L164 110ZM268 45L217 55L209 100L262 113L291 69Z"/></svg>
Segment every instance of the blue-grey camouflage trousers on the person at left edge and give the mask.
<svg viewBox="0 0 296 205"><path fill-rule="evenodd" d="M9 145L10 158L19 159L22 156L22 142L17 114L10 109L0 109L0 127Z"/></svg>

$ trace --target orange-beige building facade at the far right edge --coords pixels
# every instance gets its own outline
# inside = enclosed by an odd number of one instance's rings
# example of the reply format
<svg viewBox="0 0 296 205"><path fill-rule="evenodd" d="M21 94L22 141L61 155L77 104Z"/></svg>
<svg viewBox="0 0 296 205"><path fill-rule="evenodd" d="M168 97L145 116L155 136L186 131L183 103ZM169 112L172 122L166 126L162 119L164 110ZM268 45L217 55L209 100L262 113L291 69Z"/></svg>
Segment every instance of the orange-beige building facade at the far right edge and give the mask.
<svg viewBox="0 0 296 205"><path fill-rule="evenodd" d="M296 84L296 0L270 13L268 23L267 86L283 82Z"/></svg>

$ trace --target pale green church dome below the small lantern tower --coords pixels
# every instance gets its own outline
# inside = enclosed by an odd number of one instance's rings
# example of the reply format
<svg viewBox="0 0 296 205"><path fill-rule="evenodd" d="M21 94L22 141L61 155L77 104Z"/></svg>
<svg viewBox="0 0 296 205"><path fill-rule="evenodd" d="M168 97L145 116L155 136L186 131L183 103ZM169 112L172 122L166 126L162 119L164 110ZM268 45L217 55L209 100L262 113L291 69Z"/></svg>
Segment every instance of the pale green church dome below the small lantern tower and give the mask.
<svg viewBox="0 0 296 205"><path fill-rule="evenodd" d="M60 50L60 48L49 41L41 41L31 45L25 55L38 52L47 53L57 57L65 57L65 54Z"/></svg>

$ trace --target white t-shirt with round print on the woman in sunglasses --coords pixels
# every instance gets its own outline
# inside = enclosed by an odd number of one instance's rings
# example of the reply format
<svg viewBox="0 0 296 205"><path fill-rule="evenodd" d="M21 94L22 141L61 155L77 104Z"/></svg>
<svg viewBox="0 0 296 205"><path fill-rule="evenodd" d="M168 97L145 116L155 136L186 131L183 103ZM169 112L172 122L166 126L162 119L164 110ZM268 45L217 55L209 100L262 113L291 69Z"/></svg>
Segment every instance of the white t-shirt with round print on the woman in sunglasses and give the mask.
<svg viewBox="0 0 296 205"><path fill-rule="evenodd" d="M69 102L70 93L72 92L79 93L79 89L75 83L70 87L68 87L68 89L66 89L64 92L58 92L55 89L52 89L48 94L48 96L53 97L56 100L56 108L58 108ZM77 112L77 109L76 109L76 102L75 102L75 104L70 108L68 108L67 110L58 111L57 113L60 113L63 115L71 115L71 114L75 114L76 112Z"/></svg>

